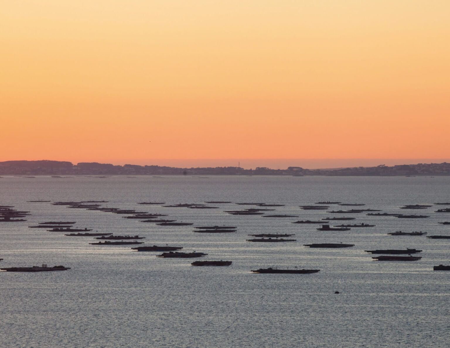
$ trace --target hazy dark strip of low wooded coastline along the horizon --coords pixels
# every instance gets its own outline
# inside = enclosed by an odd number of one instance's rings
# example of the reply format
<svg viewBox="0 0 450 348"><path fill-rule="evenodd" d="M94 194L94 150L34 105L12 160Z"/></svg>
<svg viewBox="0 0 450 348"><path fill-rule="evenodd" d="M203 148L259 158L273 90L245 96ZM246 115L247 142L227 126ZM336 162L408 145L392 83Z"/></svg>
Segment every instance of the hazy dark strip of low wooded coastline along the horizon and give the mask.
<svg viewBox="0 0 450 348"><path fill-rule="evenodd" d="M123 166L108 163L77 163L65 161L5 161L0 162L0 175L284 175L284 176L449 176L450 163L418 163L376 167L347 167L336 169L306 169L288 167L270 169L256 167L192 167L178 168L156 165Z"/></svg>

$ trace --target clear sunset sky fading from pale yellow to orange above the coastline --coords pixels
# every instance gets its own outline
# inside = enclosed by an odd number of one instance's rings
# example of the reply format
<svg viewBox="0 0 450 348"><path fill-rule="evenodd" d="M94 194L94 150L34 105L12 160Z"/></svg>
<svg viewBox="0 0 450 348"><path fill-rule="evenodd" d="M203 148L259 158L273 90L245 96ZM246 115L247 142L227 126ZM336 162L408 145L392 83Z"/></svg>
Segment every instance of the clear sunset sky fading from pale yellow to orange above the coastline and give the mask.
<svg viewBox="0 0 450 348"><path fill-rule="evenodd" d="M448 0L1 9L0 161L450 157Z"/></svg>

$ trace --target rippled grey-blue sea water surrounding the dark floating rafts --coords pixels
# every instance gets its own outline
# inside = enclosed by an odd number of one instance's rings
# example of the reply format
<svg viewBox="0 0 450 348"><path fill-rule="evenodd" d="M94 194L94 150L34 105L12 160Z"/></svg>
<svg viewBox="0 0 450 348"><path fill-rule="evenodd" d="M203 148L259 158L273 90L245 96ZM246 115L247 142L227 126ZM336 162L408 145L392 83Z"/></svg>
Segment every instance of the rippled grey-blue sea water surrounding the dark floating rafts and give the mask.
<svg viewBox="0 0 450 348"><path fill-rule="evenodd" d="M396 230L450 235L450 213L399 209L450 201L450 177L152 176L0 178L0 205L31 212L28 221L0 222L1 267L47 263L69 271L0 273L1 347L448 347L450 240L390 236ZM238 226L236 233L199 234L192 226L156 226L108 212L28 200L107 200L104 206L169 214L193 226ZM142 206L143 201L202 203L219 209ZM425 219L351 214L376 227L321 232L326 211L299 205L321 200L366 203L383 212ZM232 216L251 208L235 202L285 204L293 218ZM355 208L355 207L338 207ZM336 210L336 209L332 209ZM168 217L168 218L169 218ZM95 246L92 237L27 226L43 221L145 238L143 245L175 245L233 261L230 267L191 267L199 259L156 258L130 246ZM341 221L336 221L336 225ZM342 221L347 222L347 221ZM350 221L351 222L351 221ZM251 243L247 234L295 233L296 242ZM309 249L303 244L350 243ZM367 249L423 249L416 262L377 262ZM315 268L306 275L252 274L277 266ZM334 294L339 291L340 294Z"/></svg>

